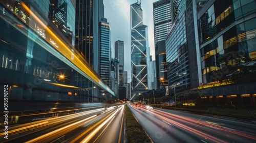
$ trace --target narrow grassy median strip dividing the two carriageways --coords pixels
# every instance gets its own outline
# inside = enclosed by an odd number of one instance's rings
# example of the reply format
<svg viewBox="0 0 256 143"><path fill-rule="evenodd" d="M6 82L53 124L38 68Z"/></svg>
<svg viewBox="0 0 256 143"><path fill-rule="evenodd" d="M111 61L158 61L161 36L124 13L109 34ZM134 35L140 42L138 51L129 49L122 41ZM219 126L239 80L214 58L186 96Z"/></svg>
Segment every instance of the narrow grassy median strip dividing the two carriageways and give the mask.
<svg viewBox="0 0 256 143"><path fill-rule="evenodd" d="M125 116L128 142L151 142L127 105L125 105Z"/></svg>

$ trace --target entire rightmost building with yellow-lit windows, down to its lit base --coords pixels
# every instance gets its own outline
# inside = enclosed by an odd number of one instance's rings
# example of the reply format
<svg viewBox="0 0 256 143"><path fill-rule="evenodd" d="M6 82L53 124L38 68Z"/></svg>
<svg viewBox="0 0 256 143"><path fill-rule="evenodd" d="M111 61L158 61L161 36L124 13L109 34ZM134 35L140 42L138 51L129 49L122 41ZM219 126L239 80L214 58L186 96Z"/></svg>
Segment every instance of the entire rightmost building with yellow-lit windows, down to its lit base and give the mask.
<svg viewBox="0 0 256 143"><path fill-rule="evenodd" d="M198 6L199 103L255 107L256 1L216 0Z"/></svg>

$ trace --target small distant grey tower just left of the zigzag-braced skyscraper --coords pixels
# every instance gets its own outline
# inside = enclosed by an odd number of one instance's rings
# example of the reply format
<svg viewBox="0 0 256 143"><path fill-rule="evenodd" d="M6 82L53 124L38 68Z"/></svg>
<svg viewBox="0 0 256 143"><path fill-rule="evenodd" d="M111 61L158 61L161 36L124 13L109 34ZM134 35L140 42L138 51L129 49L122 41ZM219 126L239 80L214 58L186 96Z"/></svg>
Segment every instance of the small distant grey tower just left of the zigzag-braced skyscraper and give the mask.
<svg viewBox="0 0 256 143"><path fill-rule="evenodd" d="M115 42L115 58L119 60L119 86L124 86L123 66L124 66L124 45L123 41Z"/></svg>

